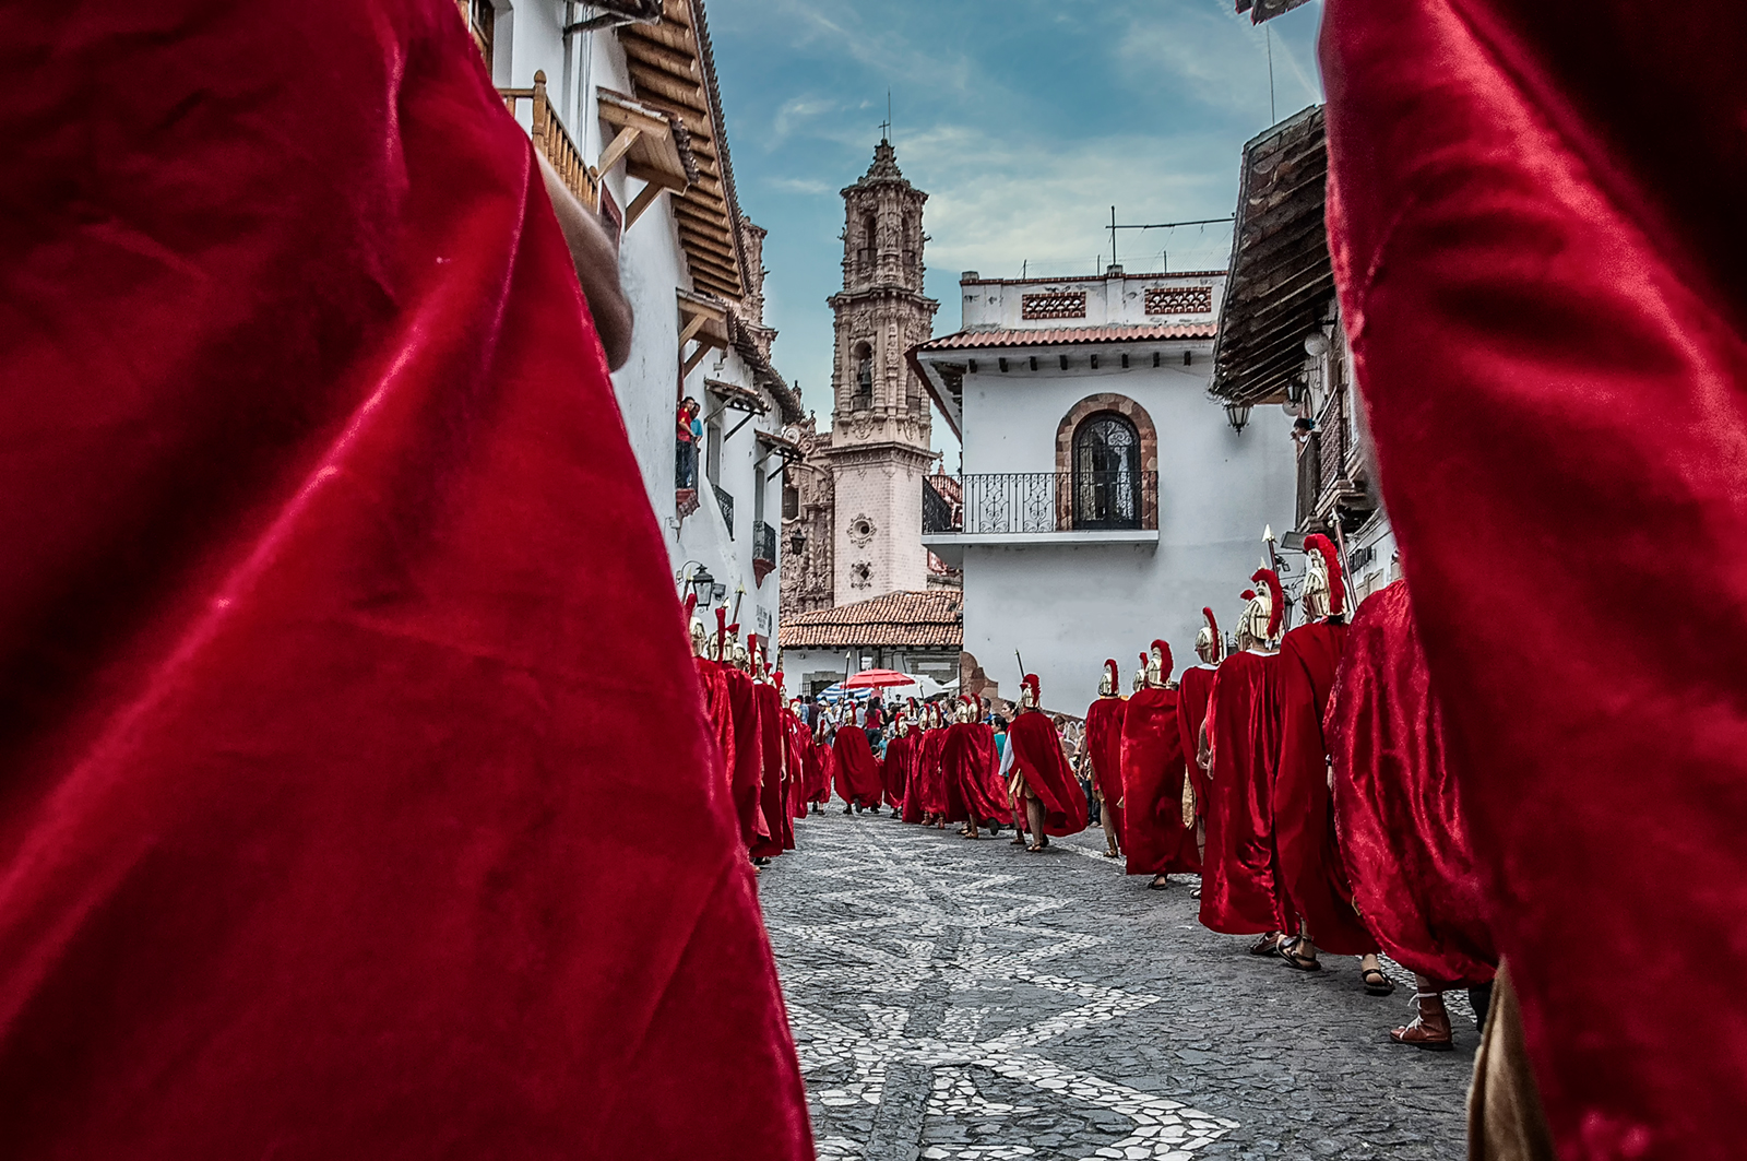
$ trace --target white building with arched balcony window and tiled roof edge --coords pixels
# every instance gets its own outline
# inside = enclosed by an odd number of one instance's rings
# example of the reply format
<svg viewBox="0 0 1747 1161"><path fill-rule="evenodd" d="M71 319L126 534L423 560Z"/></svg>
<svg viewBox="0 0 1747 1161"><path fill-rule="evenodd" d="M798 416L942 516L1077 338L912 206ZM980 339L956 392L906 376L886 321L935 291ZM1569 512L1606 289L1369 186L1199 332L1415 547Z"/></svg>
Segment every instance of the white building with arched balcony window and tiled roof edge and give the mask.
<svg viewBox="0 0 1747 1161"><path fill-rule="evenodd" d="M1235 624L1263 530L1293 525L1291 420L1207 393L1223 273L959 285L961 330L910 351L964 448L922 544L964 572L966 689L1012 699L1024 657L1081 713L1104 657L1190 659L1204 605Z"/></svg>

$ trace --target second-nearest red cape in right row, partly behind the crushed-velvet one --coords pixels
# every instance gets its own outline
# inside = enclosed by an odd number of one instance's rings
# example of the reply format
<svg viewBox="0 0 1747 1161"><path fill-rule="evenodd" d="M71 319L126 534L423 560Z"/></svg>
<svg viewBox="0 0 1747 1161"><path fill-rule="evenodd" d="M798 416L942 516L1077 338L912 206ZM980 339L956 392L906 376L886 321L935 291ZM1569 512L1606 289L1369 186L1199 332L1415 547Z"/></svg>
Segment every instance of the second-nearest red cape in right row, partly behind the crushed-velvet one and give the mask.
<svg viewBox="0 0 1747 1161"><path fill-rule="evenodd" d="M1345 624L1315 621L1281 638L1281 755L1274 768L1274 850L1281 890L1312 942L1335 955L1368 955L1377 939L1352 909L1352 886L1335 838L1322 712L1335 685Z"/></svg>

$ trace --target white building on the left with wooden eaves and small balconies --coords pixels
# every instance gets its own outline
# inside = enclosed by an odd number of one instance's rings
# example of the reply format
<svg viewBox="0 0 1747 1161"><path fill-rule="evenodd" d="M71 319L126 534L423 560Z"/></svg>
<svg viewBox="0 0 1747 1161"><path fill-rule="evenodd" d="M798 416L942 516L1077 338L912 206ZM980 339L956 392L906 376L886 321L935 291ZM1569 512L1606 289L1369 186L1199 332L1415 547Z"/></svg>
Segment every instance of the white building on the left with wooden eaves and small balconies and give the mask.
<svg viewBox="0 0 1747 1161"><path fill-rule="evenodd" d="M676 593L702 591L742 635L774 640L783 467L797 455L781 432L802 411L770 364L765 233L739 208L704 3L458 5L505 103L618 240L636 327L613 386ZM687 397L704 427L688 477Z"/></svg>

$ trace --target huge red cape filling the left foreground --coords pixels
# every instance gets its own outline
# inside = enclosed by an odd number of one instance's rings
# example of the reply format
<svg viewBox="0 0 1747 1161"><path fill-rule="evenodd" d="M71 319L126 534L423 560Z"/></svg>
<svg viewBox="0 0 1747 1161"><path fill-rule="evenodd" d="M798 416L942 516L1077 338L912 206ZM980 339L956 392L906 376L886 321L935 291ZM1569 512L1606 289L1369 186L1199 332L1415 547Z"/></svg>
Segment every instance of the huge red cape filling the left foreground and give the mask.
<svg viewBox="0 0 1747 1161"><path fill-rule="evenodd" d="M5 33L3 1152L811 1158L660 530L452 0Z"/></svg>

